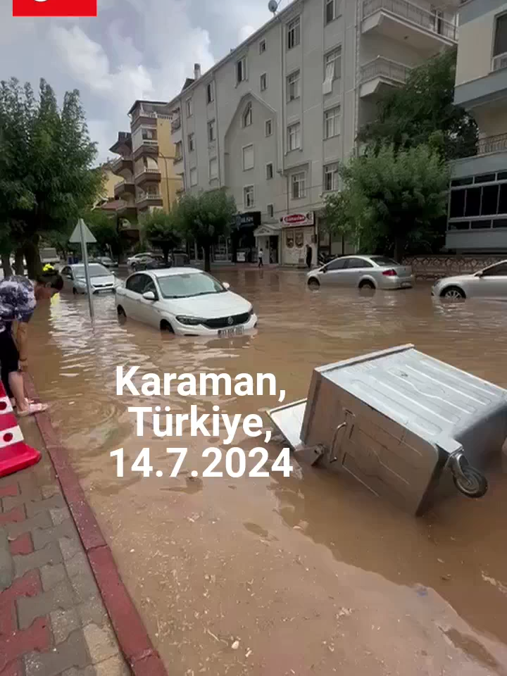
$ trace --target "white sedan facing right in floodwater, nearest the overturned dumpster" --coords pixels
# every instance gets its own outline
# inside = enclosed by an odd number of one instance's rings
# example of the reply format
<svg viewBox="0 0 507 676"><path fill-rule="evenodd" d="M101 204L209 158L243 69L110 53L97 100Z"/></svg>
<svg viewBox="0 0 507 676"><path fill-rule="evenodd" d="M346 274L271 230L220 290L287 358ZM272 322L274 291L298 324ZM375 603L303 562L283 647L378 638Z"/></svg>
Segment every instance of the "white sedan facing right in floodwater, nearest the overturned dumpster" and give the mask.
<svg viewBox="0 0 507 676"><path fill-rule="evenodd" d="M116 308L120 318L185 336L235 336L257 324L249 301L196 268L134 273L116 289Z"/></svg>

